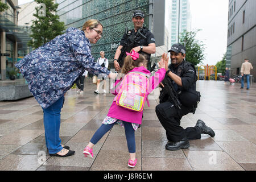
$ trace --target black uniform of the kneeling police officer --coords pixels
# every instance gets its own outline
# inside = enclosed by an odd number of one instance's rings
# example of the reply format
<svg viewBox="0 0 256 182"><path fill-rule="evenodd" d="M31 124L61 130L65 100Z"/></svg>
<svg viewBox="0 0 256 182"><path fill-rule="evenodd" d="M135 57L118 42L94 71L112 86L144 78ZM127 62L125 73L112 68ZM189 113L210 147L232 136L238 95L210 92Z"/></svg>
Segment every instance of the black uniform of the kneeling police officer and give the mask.
<svg viewBox="0 0 256 182"><path fill-rule="evenodd" d="M177 68L170 64L169 69L181 77L182 86L175 84L177 92L196 89L196 74L191 63L183 60ZM181 70L181 72L177 73L179 70ZM183 115L193 112L193 106L181 105L181 109L178 109L174 104L172 104L172 102L166 100L157 105L155 111L160 123L166 130L166 137L169 141L179 142L184 139L193 140L201 138L201 131L199 127L195 126L183 129L183 127L180 126L180 119Z"/></svg>

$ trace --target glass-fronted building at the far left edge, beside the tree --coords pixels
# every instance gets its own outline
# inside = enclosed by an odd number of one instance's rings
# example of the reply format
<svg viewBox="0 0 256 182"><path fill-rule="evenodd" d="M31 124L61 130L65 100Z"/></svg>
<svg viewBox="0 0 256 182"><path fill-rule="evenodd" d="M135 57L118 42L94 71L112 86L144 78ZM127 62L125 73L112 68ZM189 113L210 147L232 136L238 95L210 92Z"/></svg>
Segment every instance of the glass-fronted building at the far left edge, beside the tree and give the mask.
<svg viewBox="0 0 256 182"><path fill-rule="evenodd" d="M14 65L20 60L20 56L24 56L28 52L27 42L30 37L22 27L17 25L20 7L17 0L1 1L8 6L7 10L0 13L0 80L8 80L10 71L14 69ZM19 74L16 78L19 78Z"/></svg>

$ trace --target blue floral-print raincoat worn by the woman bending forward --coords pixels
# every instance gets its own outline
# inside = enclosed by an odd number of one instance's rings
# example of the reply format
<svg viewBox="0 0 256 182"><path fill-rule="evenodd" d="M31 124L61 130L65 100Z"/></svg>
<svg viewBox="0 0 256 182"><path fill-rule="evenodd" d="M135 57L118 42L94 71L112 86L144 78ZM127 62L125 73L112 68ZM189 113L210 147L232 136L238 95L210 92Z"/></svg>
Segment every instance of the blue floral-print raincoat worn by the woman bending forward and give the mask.
<svg viewBox="0 0 256 182"><path fill-rule="evenodd" d="M104 73L104 77L110 73L94 62L84 31L73 27L26 55L15 67L43 109L59 100L84 69L94 75Z"/></svg>

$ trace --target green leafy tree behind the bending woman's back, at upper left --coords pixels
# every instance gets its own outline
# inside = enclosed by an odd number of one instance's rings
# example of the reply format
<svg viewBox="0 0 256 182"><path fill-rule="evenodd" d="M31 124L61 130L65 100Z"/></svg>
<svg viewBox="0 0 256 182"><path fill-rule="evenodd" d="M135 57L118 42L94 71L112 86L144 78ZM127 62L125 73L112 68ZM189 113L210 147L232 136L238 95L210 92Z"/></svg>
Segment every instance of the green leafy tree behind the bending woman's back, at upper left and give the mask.
<svg viewBox="0 0 256 182"><path fill-rule="evenodd" d="M56 10L59 4L55 4L52 0L35 0L40 6L36 7L36 13L33 14L36 19L32 21L32 35L28 42L28 46L38 48L49 42L57 35L63 34L65 30L64 22L59 21L59 15Z"/></svg>

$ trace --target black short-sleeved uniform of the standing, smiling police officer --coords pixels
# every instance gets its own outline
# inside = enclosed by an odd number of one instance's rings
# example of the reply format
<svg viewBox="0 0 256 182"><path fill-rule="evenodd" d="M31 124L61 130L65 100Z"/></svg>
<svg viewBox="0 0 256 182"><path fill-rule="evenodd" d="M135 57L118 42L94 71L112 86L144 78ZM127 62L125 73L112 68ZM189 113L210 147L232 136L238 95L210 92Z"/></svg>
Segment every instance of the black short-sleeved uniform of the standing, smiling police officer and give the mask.
<svg viewBox="0 0 256 182"><path fill-rule="evenodd" d="M148 28L143 27L141 30L142 35L146 37L146 39L140 37L139 41L135 44L135 46L131 47L130 49L127 49L126 52L130 52L132 48L137 47L137 46L148 46L148 44L155 43L155 38L154 35L148 30ZM126 34L123 35L120 46L123 46L123 49L126 49L126 46L131 43L131 40L133 40L136 32L134 28L132 30L129 30L126 32ZM139 51L143 56L145 56L147 61L150 61L150 56L151 54ZM123 55L122 62L119 62L119 66L122 67L123 65L123 60L124 57L126 57L126 53Z"/></svg>

